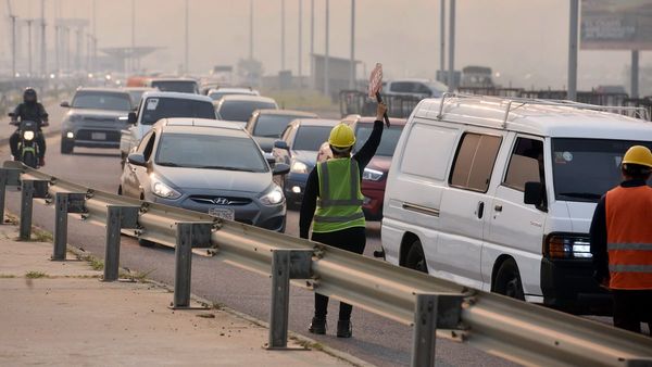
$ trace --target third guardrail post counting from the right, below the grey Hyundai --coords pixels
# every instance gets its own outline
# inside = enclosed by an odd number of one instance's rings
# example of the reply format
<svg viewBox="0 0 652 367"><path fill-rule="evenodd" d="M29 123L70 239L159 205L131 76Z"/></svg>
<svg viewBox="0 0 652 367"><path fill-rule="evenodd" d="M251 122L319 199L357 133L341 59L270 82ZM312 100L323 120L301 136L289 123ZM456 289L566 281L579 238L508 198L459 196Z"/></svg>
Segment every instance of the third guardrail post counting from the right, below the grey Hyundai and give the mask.
<svg viewBox="0 0 652 367"><path fill-rule="evenodd" d="M212 223L177 223L173 309L192 308L190 307L192 248L209 248L212 230Z"/></svg>

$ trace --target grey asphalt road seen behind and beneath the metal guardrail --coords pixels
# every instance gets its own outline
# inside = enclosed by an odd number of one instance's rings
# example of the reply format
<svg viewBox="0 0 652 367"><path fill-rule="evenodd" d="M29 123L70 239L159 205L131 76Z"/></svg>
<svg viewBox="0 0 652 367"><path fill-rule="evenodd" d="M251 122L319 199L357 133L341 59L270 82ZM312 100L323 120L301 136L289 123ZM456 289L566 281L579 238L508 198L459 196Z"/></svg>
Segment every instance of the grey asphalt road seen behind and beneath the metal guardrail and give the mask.
<svg viewBox="0 0 652 367"><path fill-rule="evenodd" d="M60 138L48 139L47 166L43 172L53 176L108 192L116 192L120 178L117 150L75 149L73 155L61 155ZM1 154L7 156L8 147ZM20 197L8 193L8 210L18 213ZM52 206L36 204L34 223L53 230ZM298 213L289 212L287 233L298 236ZM104 256L104 228L70 220L68 241L98 257ZM367 248L371 256L379 248L378 223L369 224ZM133 271L148 273L148 277L168 284L174 283L174 251L166 248L141 248L131 238L123 237L121 266ZM215 303L224 304L256 318L267 320L269 308L269 279L224 264L217 260L195 256L192 263L192 292ZM172 301L172 294L171 294ZM334 349L350 353L378 366L404 366L410 364L412 342L411 328L381 318L362 309L353 311L353 338L337 339L337 302L331 302L328 317L328 334L317 337L308 332L313 312L313 294L294 288L290 298L290 329L303 333ZM509 366L504 359L490 356L467 345L448 340L437 341L439 366Z"/></svg>

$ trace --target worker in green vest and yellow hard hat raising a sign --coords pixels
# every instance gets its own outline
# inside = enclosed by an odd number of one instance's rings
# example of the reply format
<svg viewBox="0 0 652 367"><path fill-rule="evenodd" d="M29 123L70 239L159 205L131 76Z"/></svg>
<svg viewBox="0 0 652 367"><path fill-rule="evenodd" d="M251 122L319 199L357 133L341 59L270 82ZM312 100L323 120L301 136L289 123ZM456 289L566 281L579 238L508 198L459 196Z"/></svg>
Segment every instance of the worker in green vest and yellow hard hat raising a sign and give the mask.
<svg viewBox="0 0 652 367"><path fill-rule="evenodd" d="M374 130L367 141L351 155L355 134L349 125L339 124L330 131L328 143L333 159L318 163L310 173L301 204L299 233L308 238L312 224L312 240L335 248L362 254L366 243L365 219L362 212L364 197L361 178L383 137L383 116L387 111L379 103ZM309 331L326 333L328 298L315 292L315 313ZM351 338L351 311L353 307L340 303L337 337Z"/></svg>

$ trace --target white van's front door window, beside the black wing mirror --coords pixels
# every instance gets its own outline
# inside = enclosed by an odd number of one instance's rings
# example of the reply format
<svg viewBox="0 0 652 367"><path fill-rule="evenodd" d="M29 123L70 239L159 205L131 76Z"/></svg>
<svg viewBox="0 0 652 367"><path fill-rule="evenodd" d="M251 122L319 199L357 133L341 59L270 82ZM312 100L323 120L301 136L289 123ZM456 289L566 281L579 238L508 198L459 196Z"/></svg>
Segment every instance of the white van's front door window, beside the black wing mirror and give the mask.
<svg viewBox="0 0 652 367"><path fill-rule="evenodd" d="M525 191L525 182L546 182L543 173L543 142L517 138L503 180L504 186Z"/></svg>

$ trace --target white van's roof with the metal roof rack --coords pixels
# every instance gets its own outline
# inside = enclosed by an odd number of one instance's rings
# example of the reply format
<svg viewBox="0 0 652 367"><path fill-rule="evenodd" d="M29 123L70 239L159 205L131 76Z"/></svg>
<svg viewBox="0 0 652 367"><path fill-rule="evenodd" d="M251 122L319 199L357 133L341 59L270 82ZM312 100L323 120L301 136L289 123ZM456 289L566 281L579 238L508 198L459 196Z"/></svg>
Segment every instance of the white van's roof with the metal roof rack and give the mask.
<svg viewBox="0 0 652 367"><path fill-rule="evenodd" d="M425 99L413 116L439 121L440 105L441 99ZM592 109L604 107L569 101L449 97L441 121L543 137L640 140L652 136L650 122Z"/></svg>

